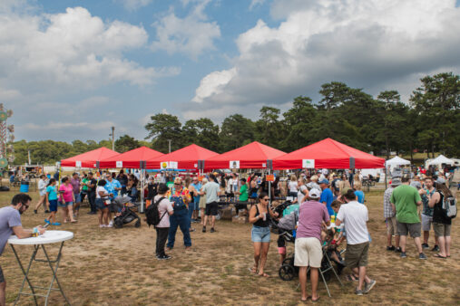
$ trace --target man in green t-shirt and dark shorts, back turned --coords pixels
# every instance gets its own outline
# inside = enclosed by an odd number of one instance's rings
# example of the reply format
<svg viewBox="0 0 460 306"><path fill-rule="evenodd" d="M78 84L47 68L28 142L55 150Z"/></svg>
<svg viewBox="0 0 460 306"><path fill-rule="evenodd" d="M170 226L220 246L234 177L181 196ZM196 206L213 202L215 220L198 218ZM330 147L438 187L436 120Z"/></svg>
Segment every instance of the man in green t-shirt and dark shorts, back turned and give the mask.
<svg viewBox="0 0 460 306"><path fill-rule="evenodd" d="M422 225L417 214L417 206L422 204L422 198L413 186L409 186L409 177L402 178L402 185L397 186L391 195L391 205L396 210L396 227L399 234L399 244L401 245L401 258L406 258L406 238L407 233L414 238L419 259L426 259L420 242L420 232Z"/></svg>

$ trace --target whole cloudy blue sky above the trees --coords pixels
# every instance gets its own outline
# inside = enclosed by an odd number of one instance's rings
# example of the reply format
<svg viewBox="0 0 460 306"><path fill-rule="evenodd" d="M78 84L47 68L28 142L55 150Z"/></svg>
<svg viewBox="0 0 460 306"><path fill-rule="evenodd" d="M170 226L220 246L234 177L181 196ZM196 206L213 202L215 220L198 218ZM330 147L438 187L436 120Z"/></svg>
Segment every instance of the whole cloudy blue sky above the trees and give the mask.
<svg viewBox="0 0 460 306"><path fill-rule="evenodd" d="M460 73L460 0L1 0L16 139L138 139L152 114L257 119L344 81L406 100Z"/></svg>

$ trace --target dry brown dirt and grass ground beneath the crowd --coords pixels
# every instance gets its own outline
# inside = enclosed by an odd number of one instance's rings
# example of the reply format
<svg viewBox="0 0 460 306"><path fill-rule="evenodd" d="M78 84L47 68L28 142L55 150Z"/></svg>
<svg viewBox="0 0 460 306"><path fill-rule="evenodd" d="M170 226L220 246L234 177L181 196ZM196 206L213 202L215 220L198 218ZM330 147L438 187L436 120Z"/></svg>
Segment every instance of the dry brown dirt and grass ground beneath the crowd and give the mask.
<svg viewBox="0 0 460 306"><path fill-rule="evenodd" d="M14 194L0 194L2 206L8 205ZM34 193L32 196L34 201L38 197ZM382 197L382 190L367 193L368 228L372 236L367 271L371 278L377 280L377 285L369 294L358 297L354 294L356 282L344 280L344 287L340 287L337 280L332 279L329 282L332 298L329 298L324 284L320 282L319 304L458 304L458 220L454 220L452 228L452 258L436 259L431 251L427 251L428 260L418 260L415 245L409 240L408 257L402 260L396 253L385 249L386 225ZM64 292L73 305L301 303L300 293L296 290L297 278L284 282L278 276L278 236L275 234L271 234L266 271L270 277L261 278L248 270L252 265L250 225L220 221L216 226L217 232L212 234L209 231L203 234L201 226L193 225L197 231L191 233L191 251L184 250L179 231L176 245L170 253L172 259L157 261L154 257L155 233L152 228L144 223L141 228L134 228L132 223L122 229L100 229L97 218L87 215L87 211L88 208L83 207L77 224L52 228L74 233L74 238L64 245L64 256L58 271ZM34 215L31 208L22 216L23 225L32 227L44 224L44 217L43 210ZM434 244L433 232L429 244ZM293 244L289 244L288 248L292 252ZM17 247L16 250L23 261L30 259L31 246ZM5 252L0 256L0 265L7 282L6 300L12 303L23 278L9 245L5 246ZM343 275L347 273L345 269ZM44 263L35 263L32 274L32 282L37 284L41 282L43 285L51 280L51 271ZM21 303L33 304L33 300L21 297ZM62 296L58 292L52 293L50 305L63 304Z"/></svg>

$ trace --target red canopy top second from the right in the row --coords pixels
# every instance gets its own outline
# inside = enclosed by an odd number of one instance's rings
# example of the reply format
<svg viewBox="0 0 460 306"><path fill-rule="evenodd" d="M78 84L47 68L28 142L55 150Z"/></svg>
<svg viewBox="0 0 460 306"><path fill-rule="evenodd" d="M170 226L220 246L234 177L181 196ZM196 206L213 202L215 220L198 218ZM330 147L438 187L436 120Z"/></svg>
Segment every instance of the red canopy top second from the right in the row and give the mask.
<svg viewBox="0 0 460 306"><path fill-rule="evenodd" d="M265 168L267 160L278 158L286 153L276 148L271 148L257 141L241 148L235 148L229 152L220 154L215 158L205 161L207 169L228 168Z"/></svg>

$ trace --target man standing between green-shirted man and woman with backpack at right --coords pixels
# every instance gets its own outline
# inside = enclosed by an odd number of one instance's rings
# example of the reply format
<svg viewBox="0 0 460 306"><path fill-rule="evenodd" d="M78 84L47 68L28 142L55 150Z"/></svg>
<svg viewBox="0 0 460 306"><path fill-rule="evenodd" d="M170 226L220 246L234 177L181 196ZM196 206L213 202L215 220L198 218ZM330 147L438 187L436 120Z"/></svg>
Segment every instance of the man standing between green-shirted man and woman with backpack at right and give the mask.
<svg viewBox="0 0 460 306"><path fill-rule="evenodd" d="M423 211L422 211L422 230L424 231L423 249L429 249L428 238L430 237L431 225L433 224L433 211L434 208L429 206L430 198L435 194L436 188L433 184L433 177L425 177L425 189L420 189L418 193L422 197ZM437 237L435 235L435 247L433 250L439 252L437 244Z"/></svg>

